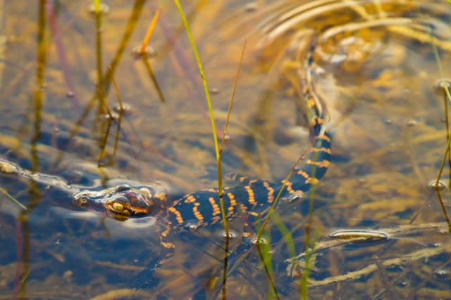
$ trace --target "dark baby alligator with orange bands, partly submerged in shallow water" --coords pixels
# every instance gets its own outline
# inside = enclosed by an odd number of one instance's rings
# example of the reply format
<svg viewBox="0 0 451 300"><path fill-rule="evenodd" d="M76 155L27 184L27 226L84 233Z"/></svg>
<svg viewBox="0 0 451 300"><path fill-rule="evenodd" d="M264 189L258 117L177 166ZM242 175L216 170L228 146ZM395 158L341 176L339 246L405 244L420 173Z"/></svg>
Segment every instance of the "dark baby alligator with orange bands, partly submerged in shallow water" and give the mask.
<svg viewBox="0 0 451 300"><path fill-rule="evenodd" d="M295 169L288 180L281 182L236 176L235 178L240 182L239 185L223 188L227 219L240 215L247 215L251 221L259 219L271 207L280 188L283 188L281 197L290 197L290 195L296 197L306 193L311 185L319 181L326 173L330 163L330 136L327 132L322 132L324 119L321 103L311 92L309 81L306 79L302 84L307 106L305 115L311 127L310 135L314 143L304 167ZM218 190L215 188L198 190L171 200L166 193L152 193L152 190L146 187L134 188L130 185L119 185L100 192L77 193L73 198L73 204L84 209L103 211L116 219L155 216L156 220L162 224L159 228L161 253L152 259L132 282L132 286L136 288L149 283L155 270L171 259L175 252L174 233L222 221ZM246 229L245 234L247 234Z"/></svg>

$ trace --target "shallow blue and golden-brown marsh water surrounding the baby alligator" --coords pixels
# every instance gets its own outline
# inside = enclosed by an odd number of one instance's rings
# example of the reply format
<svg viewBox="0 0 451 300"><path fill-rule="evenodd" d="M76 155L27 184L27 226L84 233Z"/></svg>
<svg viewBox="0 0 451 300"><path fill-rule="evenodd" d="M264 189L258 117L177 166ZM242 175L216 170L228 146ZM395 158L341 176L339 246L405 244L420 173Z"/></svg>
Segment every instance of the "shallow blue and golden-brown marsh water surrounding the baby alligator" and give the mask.
<svg viewBox="0 0 451 300"><path fill-rule="evenodd" d="M268 179L288 174L308 145L307 130L297 126L306 125L299 80L307 79L327 112L334 155L314 195L314 241L330 228L447 221L449 188L440 194L428 188L446 145L446 93L433 89L438 79L450 77L446 1L187 2L219 128L248 41L223 157L226 171ZM109 13L95 18L80 1L1 1L1 159L85 188L110 186L118 178L162 181L174 195L216 185L192 52L172 1L159 6L151 41L156 56L143 60L131 49L144 37L153 2L110 1ZM119 97L130 109L111 122L105 102L115 107ZM47 181L1 174L0 185L28 208L0 198L0 299L217 294L218 228L178 237L178 254L159 270L158 287L135 292L130 280L159 248L153 219L85 216L74 212L67 190ZM307 202L277 210L301 255ZM235 226L241 233L242 224ZM297 299L299 282L284 263L294 254L280 236L272 226L273 280L280 298ZM449 231L398 236L319 251L310 283L323 284L309 293L446 298ZM228 296L266 298L271 285L259 261L253 249L231 262Z"/></svg>

